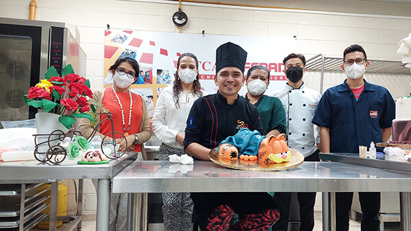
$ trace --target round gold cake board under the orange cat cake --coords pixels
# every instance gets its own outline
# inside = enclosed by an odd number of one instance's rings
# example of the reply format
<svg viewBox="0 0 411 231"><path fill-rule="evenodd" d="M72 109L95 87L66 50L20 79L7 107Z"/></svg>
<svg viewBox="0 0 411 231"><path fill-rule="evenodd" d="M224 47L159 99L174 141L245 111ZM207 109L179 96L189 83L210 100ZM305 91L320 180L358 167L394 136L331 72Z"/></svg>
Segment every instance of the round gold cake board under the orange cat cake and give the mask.
<svg viewBox="0 0 411 231"><path fill-rule="evenodd" d="M293 167L297 167L298 165L301 165L301 163L304 162L304 156L303 154L301 154L301 152L292 148L290 148L290 152L290 161L284 163L264 163L261 161L244 161L242 159L225 159L219 156L219 152L216 151L216 148L213 148L210 151L210 153L208 153L208 156L210 157L212 162L223 167L247 171L268 172L290 169Z"/></svg>

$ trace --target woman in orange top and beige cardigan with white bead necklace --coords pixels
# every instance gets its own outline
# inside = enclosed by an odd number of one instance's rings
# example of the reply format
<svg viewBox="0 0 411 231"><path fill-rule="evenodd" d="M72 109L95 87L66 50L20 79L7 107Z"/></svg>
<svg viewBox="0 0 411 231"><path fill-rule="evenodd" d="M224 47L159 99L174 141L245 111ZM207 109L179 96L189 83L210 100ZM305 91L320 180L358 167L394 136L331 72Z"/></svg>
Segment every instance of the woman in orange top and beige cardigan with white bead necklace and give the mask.
<svg viewBox="0 0 411 231"><path fill-rule="evenodd" d="M145 99L130 91L130 85L138 78L140 66L132 56L119 57L110 66L113 76L113 83L110 87L102 90L95 90L92 100L98 105L102 105L111 112L114 122L114 131L122 133L125 139L120 139L121 135L116 135L116 142L119 144L119 152L132 151L140 152L139 159L147 159L142 143L151 137L149 116ZM98 124L107 115L97 116ZM95 129L93 124L82 119L79 125L84 137L88 138ZM105 120L96 135L101 139L112 131L110 120ZM106 137L105 141L111 138ZM97 180L93 180L97 187ZM127 193L112 193L110 202L110 230L125 230L127 221Z"/></svg>

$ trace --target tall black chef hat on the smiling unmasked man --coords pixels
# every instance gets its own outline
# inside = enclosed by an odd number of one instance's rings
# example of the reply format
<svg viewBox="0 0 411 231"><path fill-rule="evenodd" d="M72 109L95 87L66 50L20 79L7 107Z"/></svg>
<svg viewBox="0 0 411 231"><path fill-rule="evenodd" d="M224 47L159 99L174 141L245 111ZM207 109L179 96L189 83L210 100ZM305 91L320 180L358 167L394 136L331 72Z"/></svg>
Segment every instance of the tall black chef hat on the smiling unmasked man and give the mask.
<svg viewBox="0 0 411 231"><path fill-rule="evenodd" d="M216 73L222 68L233 66L244 73L247 52L232 42L222 44L216 51Z"/></svg>

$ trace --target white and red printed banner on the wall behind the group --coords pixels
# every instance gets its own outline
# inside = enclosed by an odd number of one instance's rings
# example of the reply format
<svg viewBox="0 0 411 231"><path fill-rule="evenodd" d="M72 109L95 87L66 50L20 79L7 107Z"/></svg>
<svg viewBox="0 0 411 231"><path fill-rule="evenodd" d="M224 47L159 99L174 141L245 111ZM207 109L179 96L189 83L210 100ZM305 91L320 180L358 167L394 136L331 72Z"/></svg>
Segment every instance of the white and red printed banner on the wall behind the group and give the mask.
<svg viewBox="0 0 411 231"><path fill-rule="evenodd" d="M266 94L284 87L286 76L282 60L297 51L294 38L267 38L246 36L212 36L190 33L165 33L153 31L106 30L104 40L105 84L110 84L108 69L121 53L136 55L140 64L140 81L132 85L132 91L157 100L163 87L172 85L177 70L177 59L182 53L190 52L199 59L201 87L212 94L214 84L216 49L225 42L234 42L247 51L245 74L251 66L262 65L270 70L270 85ZM247 88L244 85L240 95Z"/></svg>

